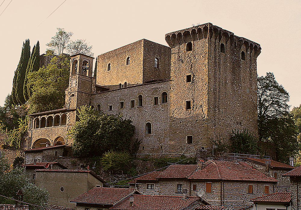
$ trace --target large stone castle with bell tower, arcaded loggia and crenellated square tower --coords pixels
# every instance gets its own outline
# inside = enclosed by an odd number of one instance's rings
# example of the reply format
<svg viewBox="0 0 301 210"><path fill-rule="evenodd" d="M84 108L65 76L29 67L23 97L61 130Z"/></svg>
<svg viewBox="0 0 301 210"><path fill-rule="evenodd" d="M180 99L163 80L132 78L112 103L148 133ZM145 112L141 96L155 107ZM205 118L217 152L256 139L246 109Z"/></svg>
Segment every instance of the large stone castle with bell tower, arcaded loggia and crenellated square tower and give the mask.
<svg viewBox="0 0 301 210"><path fill-rule="evenodd" d="M122 113L135 125L139 154L195 153L232 130L257 128L260 45L206 23L168 33L169 47L136 41L93 58L70 59L65 107L30 115L28 148L71 145L76 109Z"/></svg>

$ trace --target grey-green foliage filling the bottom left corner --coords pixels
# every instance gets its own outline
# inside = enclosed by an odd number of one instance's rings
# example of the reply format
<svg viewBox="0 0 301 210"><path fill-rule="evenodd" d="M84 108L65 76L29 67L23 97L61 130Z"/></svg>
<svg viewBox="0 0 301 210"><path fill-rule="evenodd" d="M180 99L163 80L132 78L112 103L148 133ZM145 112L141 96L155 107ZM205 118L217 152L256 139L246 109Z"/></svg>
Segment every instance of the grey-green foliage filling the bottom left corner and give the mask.
<svg viewBox="0 0 301 210"><path fill-rule="evenodd" d="M41 206L47 205L49 199L48 192L45 189L32 184L29 179L27 179L23 168L16 167L11 169L8 165L7 159L2 156L2 158L0 158L0 195L15 198L19 189L23 191L24 202ZM0 203L14 204L15 202L10 199L0 197ZM39 208L29 206L29 209L37 210Z"/></svg>

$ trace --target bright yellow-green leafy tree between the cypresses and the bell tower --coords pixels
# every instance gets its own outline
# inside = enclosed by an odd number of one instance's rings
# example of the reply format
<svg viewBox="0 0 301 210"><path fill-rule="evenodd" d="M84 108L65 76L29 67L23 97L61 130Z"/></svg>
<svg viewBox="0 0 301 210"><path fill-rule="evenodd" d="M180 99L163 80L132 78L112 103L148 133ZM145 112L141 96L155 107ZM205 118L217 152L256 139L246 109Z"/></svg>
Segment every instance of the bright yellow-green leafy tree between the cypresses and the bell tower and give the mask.
<svg viewBox="0 0 301 210"><path fill-rule="evenodd" d="M50 56L48 66L40 68L28 75L28 85L32 87L32 96L29 98L29 113L44 112L60 109L65 104L65 90L69 83L69 58L66 55Z"/></svg>

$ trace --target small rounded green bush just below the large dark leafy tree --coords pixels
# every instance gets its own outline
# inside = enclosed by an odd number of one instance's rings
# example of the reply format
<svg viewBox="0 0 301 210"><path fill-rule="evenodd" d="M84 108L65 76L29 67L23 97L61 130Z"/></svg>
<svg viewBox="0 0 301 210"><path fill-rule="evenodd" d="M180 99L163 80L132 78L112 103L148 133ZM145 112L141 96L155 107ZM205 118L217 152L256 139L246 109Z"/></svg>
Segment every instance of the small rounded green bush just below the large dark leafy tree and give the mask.
<svg viewBox="0 0 301 210"><path fill-rule="evenodd" d="M116 173L128 173L133 164L132 157L127 152L115 152L110 151L104 153L101 158L101 165L104 171L112 171L113 174Z"/></svg>

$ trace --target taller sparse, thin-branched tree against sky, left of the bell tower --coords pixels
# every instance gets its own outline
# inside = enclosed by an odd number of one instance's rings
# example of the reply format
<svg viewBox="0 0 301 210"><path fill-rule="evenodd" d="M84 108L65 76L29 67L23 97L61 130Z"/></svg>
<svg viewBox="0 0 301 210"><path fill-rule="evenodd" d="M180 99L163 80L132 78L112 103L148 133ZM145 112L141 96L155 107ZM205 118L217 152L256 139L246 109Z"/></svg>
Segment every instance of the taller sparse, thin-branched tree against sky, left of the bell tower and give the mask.
<svg viewBox="0 0 301 210"><path fill-rule="evenodd" d="M51 38L51 41L47 44L52 51L57 55L62 55L64 49L67 47L70 37L73 35L72 32L66 32L64 29L57 28L58 32L54 37Z"/></svg>

